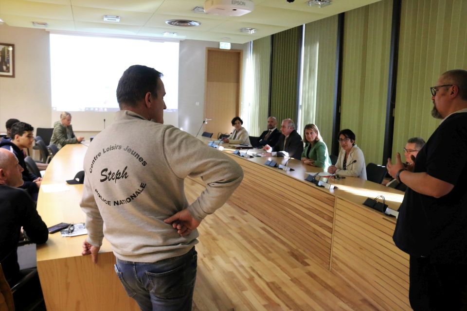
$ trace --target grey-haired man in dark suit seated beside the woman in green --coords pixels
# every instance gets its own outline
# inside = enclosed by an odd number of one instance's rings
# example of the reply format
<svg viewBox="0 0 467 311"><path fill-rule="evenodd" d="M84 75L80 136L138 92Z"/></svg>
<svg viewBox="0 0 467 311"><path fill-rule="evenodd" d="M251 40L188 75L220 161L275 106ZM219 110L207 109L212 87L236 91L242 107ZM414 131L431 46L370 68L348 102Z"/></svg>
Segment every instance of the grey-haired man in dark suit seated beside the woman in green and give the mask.
<svg viewBox="0 0 467 311"><path fill-rule="evenodd" d="M282 135L274 147L266 145L263 149L272 153L285 151L288 156L300 160L303 152L303 140L295 130L295 123L291 119L284 119L281 123L281 132Z"/></svg>

